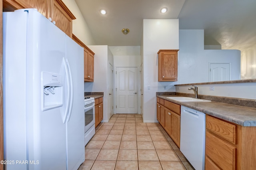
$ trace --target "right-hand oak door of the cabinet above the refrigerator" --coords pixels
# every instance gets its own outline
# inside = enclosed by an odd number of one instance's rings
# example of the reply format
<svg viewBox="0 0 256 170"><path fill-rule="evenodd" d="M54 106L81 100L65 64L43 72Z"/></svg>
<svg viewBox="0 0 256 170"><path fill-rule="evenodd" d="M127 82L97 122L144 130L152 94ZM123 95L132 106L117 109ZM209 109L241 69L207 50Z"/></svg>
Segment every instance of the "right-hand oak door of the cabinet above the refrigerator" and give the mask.
<svg viewBox="0 0 256 170"><path fill-rule="evenodd" d="M51 0L49 17L60 30L72 38L72 20L76 18L61 0Z"/></svg>

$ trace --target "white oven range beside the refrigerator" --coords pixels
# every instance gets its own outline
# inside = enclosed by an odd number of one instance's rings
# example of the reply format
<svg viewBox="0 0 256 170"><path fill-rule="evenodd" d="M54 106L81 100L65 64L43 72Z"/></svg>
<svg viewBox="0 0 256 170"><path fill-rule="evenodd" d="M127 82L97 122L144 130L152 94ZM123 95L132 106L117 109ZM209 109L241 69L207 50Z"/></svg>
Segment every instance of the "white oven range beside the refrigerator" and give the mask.
<svg viewBox="0 0 256 170"><path fill-rule="evenodd" d="M94 97L84 97L84 146L95 134L95 100Z"/></svg>

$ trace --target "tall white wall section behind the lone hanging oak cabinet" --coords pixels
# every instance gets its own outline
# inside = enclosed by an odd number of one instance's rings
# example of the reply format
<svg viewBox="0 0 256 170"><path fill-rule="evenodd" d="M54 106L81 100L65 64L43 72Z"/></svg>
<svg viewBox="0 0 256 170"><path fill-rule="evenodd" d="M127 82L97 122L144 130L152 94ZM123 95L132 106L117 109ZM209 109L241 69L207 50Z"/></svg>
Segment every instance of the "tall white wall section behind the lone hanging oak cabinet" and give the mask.
<svg viewBox="0 0 256 170"><path fill-rule="evenodd" d="M176 82L158 82L159 49L179 49L179 20L143 20L144 122L156 120L156 92L175 91ZM148 90L148 86L150 89Z"/></svg>

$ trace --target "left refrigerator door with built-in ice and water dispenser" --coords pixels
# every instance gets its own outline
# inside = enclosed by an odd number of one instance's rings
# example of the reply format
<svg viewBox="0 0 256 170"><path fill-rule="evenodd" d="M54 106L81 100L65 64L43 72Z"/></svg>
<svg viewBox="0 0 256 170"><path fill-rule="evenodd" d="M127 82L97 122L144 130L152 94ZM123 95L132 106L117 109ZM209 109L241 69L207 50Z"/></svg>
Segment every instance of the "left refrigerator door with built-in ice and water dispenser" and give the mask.
<svg viewBox="0 0 256 170"><path fill-rule="evenodd" d="M66 105L66 78L63 66L66 35L40 13L28 13L28 61L31 62L31 68L28 71L30 77L27 84L30 86L28 90L32 92L26 99L28 107L32 108L27 115L28 158L39 162L30 164L29 168L66 169L66 125L63 123ZM52 79L48 80L45 74ZM51 89L53 93L44 89L49 84L48 81L54 83L55 78L58 85ZM46 95L44 90L49 95ZM50 97L52 105L62 105L44 109L47 97Z"/></svg>

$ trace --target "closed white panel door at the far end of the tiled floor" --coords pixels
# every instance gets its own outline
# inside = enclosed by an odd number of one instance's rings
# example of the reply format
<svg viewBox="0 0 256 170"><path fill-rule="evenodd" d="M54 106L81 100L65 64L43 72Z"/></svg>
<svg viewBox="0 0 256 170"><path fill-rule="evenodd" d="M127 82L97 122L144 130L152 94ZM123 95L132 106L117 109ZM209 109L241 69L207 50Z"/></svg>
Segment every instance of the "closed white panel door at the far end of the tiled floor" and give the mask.
<svg viewBox="0 0 256 170"><path fill-rule="evenodd" d="M138 68L116 67L116 113L138 113Z"/></svg>

